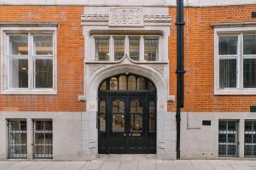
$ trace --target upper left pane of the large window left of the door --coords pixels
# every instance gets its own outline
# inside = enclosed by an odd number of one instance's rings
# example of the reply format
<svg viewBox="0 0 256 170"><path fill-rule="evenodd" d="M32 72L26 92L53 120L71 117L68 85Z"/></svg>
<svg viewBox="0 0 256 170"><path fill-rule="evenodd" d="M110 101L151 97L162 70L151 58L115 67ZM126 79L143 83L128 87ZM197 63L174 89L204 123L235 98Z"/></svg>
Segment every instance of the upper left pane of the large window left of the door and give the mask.
<svg viewBox="0 0 256 170"><path fill-rule="evenodd" d="M27 35L9 36L9 54L27 55Z"/></svg>

